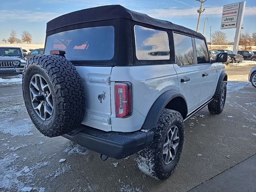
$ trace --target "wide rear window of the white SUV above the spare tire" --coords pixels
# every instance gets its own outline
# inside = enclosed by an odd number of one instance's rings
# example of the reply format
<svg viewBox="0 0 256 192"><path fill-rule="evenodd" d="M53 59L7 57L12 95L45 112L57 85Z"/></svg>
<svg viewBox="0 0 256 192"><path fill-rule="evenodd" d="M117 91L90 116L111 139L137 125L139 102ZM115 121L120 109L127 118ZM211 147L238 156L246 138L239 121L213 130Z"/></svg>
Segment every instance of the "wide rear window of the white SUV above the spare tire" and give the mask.
<svg viewBox="0 0 256 192"><path fill-rule="evenodd" d="M102 26L60 32L47 37L45 54L64 50L68 60L111 60L114 57L114 27Z"/></svg>

